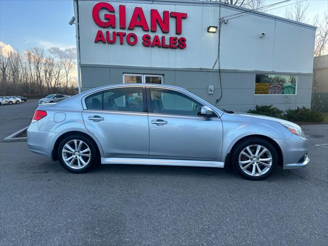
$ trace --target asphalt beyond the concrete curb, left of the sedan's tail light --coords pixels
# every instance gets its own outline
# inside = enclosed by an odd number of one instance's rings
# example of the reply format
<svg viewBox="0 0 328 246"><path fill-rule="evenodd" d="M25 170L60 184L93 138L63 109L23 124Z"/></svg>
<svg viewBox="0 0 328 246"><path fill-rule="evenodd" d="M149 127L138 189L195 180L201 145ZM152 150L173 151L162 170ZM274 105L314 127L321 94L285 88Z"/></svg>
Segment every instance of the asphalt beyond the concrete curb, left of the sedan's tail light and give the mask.
<svg viewBox="0 0 328 246"><path fill-rule="evenodd" d="M23 104L0 106L0 141L30 125L37 103L37 100L28 100Z"/></svg>

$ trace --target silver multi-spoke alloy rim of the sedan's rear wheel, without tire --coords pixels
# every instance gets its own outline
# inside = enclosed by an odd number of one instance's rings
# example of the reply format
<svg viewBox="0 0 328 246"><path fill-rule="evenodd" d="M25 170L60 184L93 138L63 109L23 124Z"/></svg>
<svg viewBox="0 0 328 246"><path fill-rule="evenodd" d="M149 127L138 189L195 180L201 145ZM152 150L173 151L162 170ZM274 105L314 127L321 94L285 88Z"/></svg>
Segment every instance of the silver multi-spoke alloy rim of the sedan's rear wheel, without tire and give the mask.
<svg viewBox="0 0 328 246"><path fill-rule="evenodd" d="M85 168L91 160L91 150L82 140L68 141L61 151L65 164L72 169Z"/></svg>

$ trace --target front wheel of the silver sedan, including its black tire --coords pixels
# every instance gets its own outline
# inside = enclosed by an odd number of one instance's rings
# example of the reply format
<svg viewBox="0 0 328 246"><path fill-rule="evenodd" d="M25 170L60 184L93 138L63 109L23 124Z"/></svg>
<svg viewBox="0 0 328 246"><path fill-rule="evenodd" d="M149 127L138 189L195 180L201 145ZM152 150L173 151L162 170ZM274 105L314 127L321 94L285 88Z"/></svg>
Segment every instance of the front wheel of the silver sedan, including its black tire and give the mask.
<svg viewBox="0 0 328 246"><path fill-rule="evenodd" d="M257 137L242 140L232 153L234 170L240 176L250 180L262 180L272 175L278 165L278 160L276 148L269 141Z"/></svg>

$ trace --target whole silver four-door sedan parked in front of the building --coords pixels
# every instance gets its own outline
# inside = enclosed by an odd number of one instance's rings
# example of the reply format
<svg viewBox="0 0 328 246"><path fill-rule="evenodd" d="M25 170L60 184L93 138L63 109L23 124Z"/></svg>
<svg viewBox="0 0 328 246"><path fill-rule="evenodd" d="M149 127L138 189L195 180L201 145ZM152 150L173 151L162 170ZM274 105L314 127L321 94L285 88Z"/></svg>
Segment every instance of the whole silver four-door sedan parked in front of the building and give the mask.
<svg viewBox="0 0 328 246"><path fill-rule="evenodd" d="M42 105L27 130L34 153L70 172L95 163L232 165L244 178L306 166L308 139L292 122L221 111L186 89L156 84L95 88Z"/></svg>

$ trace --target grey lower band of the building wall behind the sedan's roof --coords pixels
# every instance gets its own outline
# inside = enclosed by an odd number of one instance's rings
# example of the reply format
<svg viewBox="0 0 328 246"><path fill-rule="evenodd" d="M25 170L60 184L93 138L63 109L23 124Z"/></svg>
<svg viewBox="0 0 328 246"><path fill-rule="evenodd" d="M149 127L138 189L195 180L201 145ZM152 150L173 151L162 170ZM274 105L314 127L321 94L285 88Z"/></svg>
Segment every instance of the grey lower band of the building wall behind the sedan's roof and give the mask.
<svg viewBox="0 0 328 246"><path fill-rule="evenodd" d="M82 91L106 84L121 84L124 73L160 74L164 84L187 88L209 103L227 110L246 112L255 105L270 105L282 110L311 106L312 74L298 74L296 95L255 95L255 71L221 72L222 98L220 97L218 70L142 68L109 65L82 65L84 79ZM214 94L208 94L209 85L214 86Z"/></svg>

